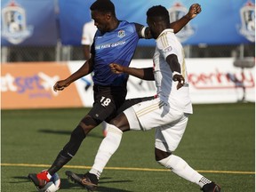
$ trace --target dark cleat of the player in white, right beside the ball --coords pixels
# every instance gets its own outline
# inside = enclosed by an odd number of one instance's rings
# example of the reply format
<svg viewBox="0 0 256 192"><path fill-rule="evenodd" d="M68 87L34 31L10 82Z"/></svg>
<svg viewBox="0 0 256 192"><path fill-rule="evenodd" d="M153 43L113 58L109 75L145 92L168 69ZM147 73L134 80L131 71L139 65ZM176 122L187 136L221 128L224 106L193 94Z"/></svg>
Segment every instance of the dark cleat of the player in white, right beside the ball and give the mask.
<svg viewBox="0 0 256 192"><path fill-rule="evenodd" d="M70 172L67 171L65 172L66 175L68 176L68 179L78 183L82 187L86 188L88 191L93 191L97 188L98 186L98 179L96 175L86 172L84 175L78 175L75 172Z"/></svg>

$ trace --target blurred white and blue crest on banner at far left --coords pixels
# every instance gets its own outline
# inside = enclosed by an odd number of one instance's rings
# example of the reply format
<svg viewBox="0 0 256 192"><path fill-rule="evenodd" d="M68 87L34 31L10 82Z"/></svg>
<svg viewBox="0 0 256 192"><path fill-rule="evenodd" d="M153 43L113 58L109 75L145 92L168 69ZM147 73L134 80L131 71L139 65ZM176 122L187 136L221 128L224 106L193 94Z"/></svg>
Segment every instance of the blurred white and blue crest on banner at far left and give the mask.
<svg viewBox="0 0 256 192"><path fill-rule="evenodd" d="M33 33L26 20L25 10L12 0L2 9L2 36L12 44L20 44Z"/></svg>

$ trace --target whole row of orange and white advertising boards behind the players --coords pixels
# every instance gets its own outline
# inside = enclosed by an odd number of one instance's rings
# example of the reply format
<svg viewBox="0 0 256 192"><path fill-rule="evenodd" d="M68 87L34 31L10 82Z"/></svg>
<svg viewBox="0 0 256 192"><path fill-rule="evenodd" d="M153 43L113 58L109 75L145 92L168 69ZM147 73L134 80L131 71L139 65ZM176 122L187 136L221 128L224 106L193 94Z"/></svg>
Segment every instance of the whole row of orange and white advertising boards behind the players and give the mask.
<svg viewBox="0 0 256 192"><path fill-rule="evenodd" d="M255 102L255 60L238 66L232 58L187 59L189 88L194 104ZM68 62L3 63L1 73L2 109L90 108L92 76L84 76L62 92L53 85L75 72L84 60ZM147 68L152 60L132 60L131 66ZM156 94L154 81L130 76L128 98Z"/></svg>

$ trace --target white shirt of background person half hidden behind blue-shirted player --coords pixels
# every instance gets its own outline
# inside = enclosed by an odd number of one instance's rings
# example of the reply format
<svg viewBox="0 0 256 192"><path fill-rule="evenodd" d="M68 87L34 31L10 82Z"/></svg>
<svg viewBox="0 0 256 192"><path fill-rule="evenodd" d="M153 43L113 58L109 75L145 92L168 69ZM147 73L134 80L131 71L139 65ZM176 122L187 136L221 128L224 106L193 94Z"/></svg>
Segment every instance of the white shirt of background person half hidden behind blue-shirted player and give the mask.
<svg viewBox="0 0 256 192"><path fill-rule="evenodd" d="M81 44L92 45L93 38L96 31L97 31L97 28L94 25L94 20L91 20L90 22L85 23L83 28L83 36L82 36Z"/></svg>

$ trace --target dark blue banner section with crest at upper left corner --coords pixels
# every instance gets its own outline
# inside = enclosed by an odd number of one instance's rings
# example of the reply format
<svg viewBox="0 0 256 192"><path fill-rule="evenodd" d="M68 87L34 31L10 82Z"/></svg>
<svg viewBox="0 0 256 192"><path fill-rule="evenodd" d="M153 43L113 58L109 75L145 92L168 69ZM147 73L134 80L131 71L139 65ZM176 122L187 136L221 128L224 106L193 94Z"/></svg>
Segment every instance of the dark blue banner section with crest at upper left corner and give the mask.
<svg viewBox="0 0 256 192"><path fill-rule="evenodd" d="M52 0L1 0L1 44L57 44L56 14Z"/></svg>

